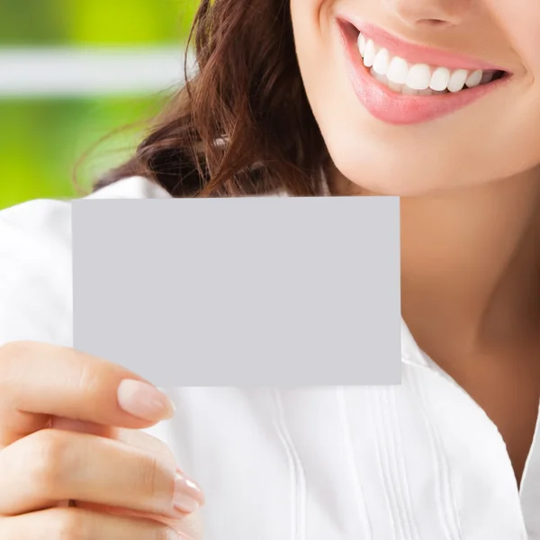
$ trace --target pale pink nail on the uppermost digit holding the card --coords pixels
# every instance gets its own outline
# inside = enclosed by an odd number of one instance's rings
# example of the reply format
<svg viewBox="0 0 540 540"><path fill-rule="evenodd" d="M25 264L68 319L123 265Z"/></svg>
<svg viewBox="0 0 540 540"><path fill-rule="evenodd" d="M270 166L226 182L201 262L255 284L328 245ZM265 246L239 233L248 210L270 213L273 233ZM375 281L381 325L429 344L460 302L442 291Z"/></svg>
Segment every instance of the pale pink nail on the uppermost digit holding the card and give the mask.
<svg viewBox="0 0 540 540"><path fill-rule="evenodd" d="M173 418L175 406L163 392L151 384L124 379L118 387L121 409L139 419L157 422Z"/></svg>

